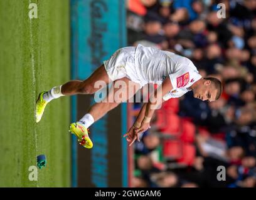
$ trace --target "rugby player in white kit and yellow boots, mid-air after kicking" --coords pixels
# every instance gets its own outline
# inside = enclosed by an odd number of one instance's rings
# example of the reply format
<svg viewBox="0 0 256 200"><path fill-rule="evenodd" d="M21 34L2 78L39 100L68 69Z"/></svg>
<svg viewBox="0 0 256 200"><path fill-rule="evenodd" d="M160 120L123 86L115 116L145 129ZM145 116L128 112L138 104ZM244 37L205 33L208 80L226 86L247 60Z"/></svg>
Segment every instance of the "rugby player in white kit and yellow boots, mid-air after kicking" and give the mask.
<svg viewBox="0 0 256 200"><path fill-rule="evenodd" d="M152 94L152 98L144 103L129 132L124 134L130 146L136 139L139 141L139 134L150 128L152 115L163 101L179 98L188 91L193 91L193 96L202 101L215 101L220 98L222 92L221 82L216 78L202 78L188 58L142 45L124 47L115 51L88 79L69 81L48 92L41 92L36 101L36 123L41 120L45 106L51 100L61 96L93 94L101 89L95 87L98 81L104 81L105 84L113 81L105 101L95 103L82 119L70 124L70 132L77 136L78 142L85 148L93 146L88 136L88 127L108 111L130 99L148 83L157 84L159 87ZM125 83L122 91L119 86L115 86L120 81ZM119 100L110 101L110 96L115 96L117 92L125 95Z"/></svg>

